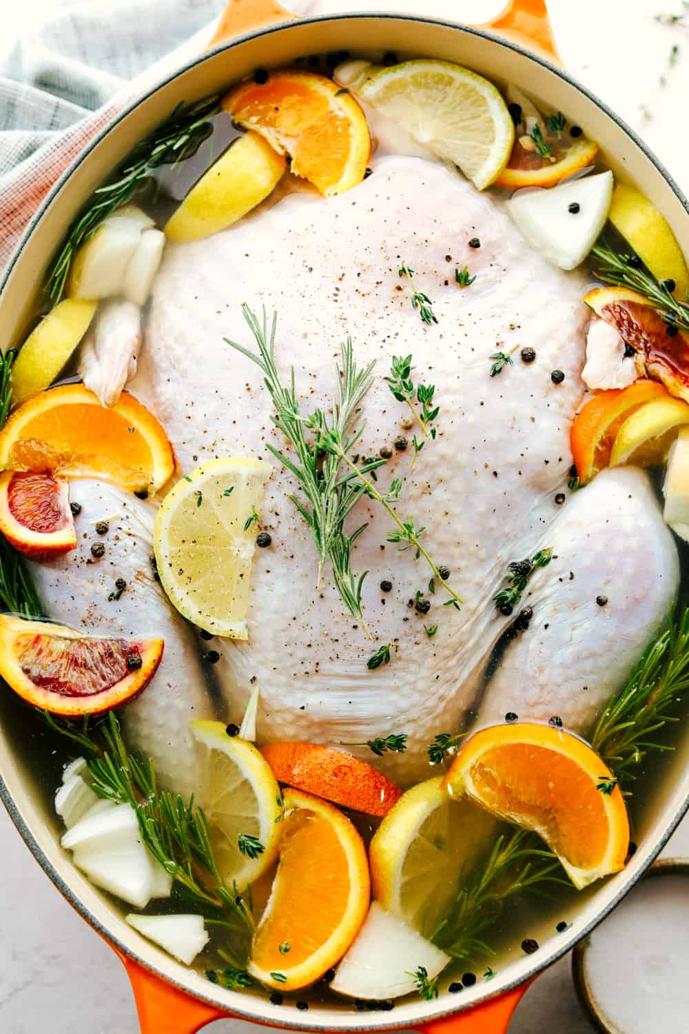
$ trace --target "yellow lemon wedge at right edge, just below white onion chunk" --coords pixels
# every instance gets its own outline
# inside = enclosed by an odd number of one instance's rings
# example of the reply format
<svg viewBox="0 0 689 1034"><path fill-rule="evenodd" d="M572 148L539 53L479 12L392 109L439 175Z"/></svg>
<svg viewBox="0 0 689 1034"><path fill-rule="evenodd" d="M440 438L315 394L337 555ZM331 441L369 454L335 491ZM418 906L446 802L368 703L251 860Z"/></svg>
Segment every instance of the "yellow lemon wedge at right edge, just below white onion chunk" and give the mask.
<svg viewBox="0 0 689 1034"><path fill-rule="evenodd" d="M667 220L648 197L618 183L608 219L657 280L675 280L678 297L689 290L689 272Z"/></svg>

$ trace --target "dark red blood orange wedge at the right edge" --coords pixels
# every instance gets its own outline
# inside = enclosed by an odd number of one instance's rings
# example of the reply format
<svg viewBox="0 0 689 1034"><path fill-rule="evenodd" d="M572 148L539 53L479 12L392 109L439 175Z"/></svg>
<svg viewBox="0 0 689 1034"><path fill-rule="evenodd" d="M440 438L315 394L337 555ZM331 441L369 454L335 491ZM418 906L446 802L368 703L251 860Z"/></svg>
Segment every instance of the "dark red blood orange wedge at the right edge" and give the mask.
<svg viewBox="0 0 689 1034"><path fill-rule="evenodd" d="M671 313L668 324L643 295L627 287L597 287L584 301L638 353L650 377L689 402L689 334L671 326Z"/></svg>

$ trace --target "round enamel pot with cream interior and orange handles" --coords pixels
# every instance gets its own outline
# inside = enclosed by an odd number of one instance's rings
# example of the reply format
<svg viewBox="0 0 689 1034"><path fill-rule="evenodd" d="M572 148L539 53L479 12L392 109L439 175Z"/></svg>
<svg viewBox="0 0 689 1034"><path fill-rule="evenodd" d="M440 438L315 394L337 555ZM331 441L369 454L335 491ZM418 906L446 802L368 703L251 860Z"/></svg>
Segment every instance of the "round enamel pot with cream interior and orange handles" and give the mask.
<svg viewBox="0 0 689 1034"><path fill-rule="evenodd" d="M257 28L258 27L258 28ZM240 34L241 33L241 34ZM511 82L561 110L601 145L616 176L631 179L669 220L689 254L689 206L665 170L597 98L558 66L543 0L513 0L479 28L426 18L353 14L293 20L273 0L228 0L213 49L151 89L103 130L56 184L34 217L5 276L0 324L7 347L17 345L46 264L69 222L93 189L133 145L177 104L223 91L256 66L288 64L302 55L357 48L399 51L467 65L497 83ZM144 1034L192 1034L220 1016L302 1030L412 1028L429 1034L505 1031L531 979L584 937L641 876L689 805L689 729L661 774L647 788L637 850L617 876L589 888L569 909L570 929L530 923L541 947L493 963L490 982L431 1002L404 1002L394 1012L356 1012L350 1005L312 1005L308 1012L278 1008L265 998L219 989L144 940L121 912L72 865L59 846L59 826L32 776L40 733L9 693L0 695L2 796L19 831L57 887L118 952L132 981ZM59 1007L59 1006L58 1006Z"/></svg>

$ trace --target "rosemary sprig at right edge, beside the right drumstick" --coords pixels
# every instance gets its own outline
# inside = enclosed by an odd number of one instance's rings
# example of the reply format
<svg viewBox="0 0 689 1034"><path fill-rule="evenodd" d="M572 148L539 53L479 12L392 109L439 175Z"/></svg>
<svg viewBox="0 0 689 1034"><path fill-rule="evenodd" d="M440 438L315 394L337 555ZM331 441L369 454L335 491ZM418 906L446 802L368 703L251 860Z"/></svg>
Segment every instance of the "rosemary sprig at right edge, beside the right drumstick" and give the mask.
<svg viewBox="0 0 689 1034"><path fill-rule="evenodd" d="M628 792L649 751L668 751L655 735L689 690L689 608L645 650L623 689L600 716L591 746Z"/></svg>

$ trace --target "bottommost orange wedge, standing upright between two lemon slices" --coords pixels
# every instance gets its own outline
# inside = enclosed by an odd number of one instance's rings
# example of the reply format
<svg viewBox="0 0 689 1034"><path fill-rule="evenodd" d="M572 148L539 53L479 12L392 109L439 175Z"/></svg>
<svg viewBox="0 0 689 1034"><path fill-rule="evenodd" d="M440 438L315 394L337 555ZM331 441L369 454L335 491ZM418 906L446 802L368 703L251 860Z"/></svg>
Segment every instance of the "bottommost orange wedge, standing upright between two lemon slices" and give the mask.
<svg viewBox="0 0 689 1034"><path fill-rule="evenodd" d="M342 812L292 789L284 807L280 861L249 972L269 987L296 991L342 959L366 918L371 886L364 842Z"/></svg>

